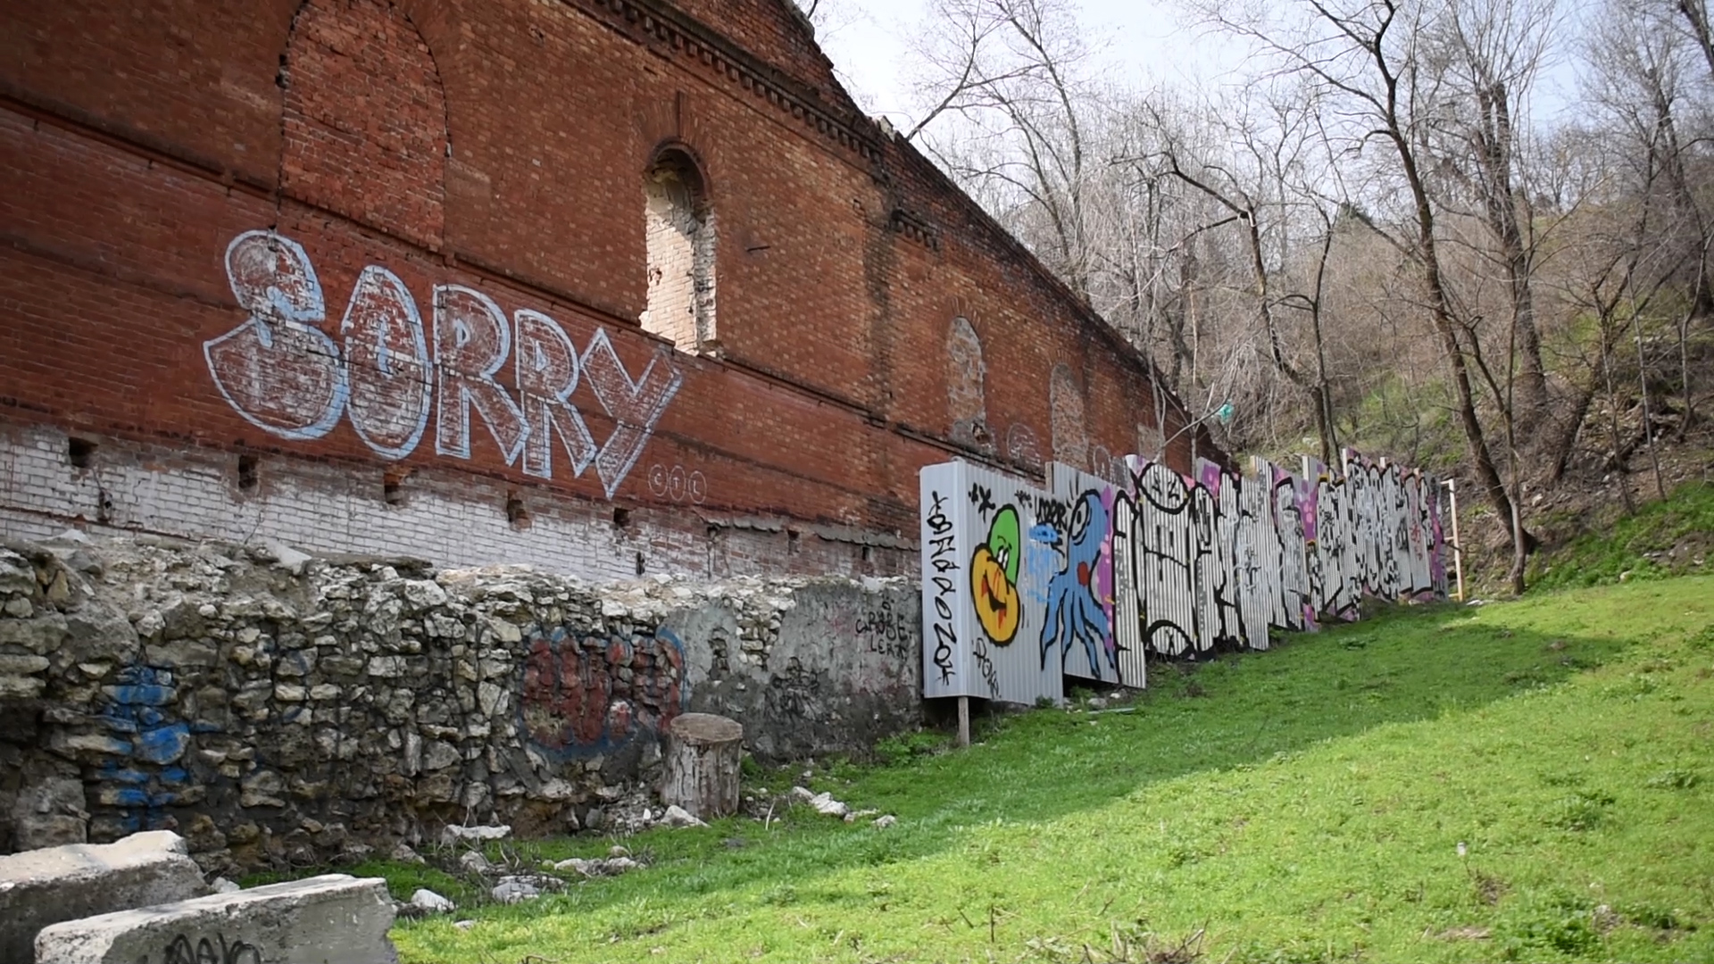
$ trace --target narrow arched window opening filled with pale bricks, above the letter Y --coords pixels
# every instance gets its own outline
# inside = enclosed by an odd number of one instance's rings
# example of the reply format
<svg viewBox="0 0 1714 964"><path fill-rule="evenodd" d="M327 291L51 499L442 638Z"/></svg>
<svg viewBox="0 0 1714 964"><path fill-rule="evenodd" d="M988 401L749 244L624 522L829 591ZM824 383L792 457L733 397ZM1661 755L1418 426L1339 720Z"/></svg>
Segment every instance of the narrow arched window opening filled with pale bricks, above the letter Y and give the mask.
<svg viewBox="0 0 1714 964"><path fill-rule="evenodd" d="M715 213L696 163L667 149L643 177L648 307L643 329L684 352L715 345Z"/></svg>

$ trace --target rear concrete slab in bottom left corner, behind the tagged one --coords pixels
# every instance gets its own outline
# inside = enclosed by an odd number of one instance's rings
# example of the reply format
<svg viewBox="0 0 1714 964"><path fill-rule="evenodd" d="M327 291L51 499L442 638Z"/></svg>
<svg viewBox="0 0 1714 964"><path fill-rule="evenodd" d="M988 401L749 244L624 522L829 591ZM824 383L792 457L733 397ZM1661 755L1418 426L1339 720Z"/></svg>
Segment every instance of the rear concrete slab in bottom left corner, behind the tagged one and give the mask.
<svg viewBox="0 0 1714 964"><path fill-rule="evenodd" d="M60 921L207 894L171 830L115 844L65 844L0 858L0 961L29 964L36 933Z"/></svg>

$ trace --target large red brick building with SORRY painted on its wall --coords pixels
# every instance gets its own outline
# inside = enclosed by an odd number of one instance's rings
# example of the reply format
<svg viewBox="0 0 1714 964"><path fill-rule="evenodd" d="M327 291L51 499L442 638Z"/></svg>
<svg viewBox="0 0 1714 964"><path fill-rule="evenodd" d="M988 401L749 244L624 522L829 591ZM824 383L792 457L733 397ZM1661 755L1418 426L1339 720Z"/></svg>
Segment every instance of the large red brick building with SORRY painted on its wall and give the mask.
<svg viewBox="0 0 1714 964"><path fill-rule="evenodd" d="M924 465L1188 470L1147 362L787 0L0 27L3 533L903 573Z"/></svg>

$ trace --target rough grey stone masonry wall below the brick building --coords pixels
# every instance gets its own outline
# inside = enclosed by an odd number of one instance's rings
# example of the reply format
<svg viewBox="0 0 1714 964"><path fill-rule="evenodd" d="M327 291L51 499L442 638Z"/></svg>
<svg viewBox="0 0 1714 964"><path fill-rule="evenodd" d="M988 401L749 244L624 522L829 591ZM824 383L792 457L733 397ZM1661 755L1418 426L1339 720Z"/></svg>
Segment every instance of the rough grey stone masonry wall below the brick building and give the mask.
<svg viewBox="0 0 1714 964"><path fill-rule="evenodd" d="M310 557L285 545L0 549L0 849L175 828L209 873L439 825L600 828L677 714L763 758L920 715L903 580L668 576Z"/></svg>

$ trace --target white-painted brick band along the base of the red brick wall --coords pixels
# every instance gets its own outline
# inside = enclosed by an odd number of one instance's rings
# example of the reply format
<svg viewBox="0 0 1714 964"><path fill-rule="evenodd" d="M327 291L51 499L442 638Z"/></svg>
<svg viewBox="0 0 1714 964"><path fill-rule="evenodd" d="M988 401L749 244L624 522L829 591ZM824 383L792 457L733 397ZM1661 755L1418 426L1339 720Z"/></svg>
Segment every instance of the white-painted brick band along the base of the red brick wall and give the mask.
<svg viewBox="0 0 1714 964"><path fill-rule="evenodd" d="M240 491L237 456L110 439L87 468L67 458L67 434L43 425L0 427L0 535L45 539L70 525L187 539L278 539L310 552L417 556L437 566L535 564L590 580L679 573L727 578L819 573L893 575L914 556L785 532L718 528L692 509L646 509L615 525L614 508L542 487L458 472L418 472L405 503L382 497L377 467L351 468L262 456L259 484ZM512 525L518 491L528 525ZM783 527L782 527L783 528Z"/></svg>

